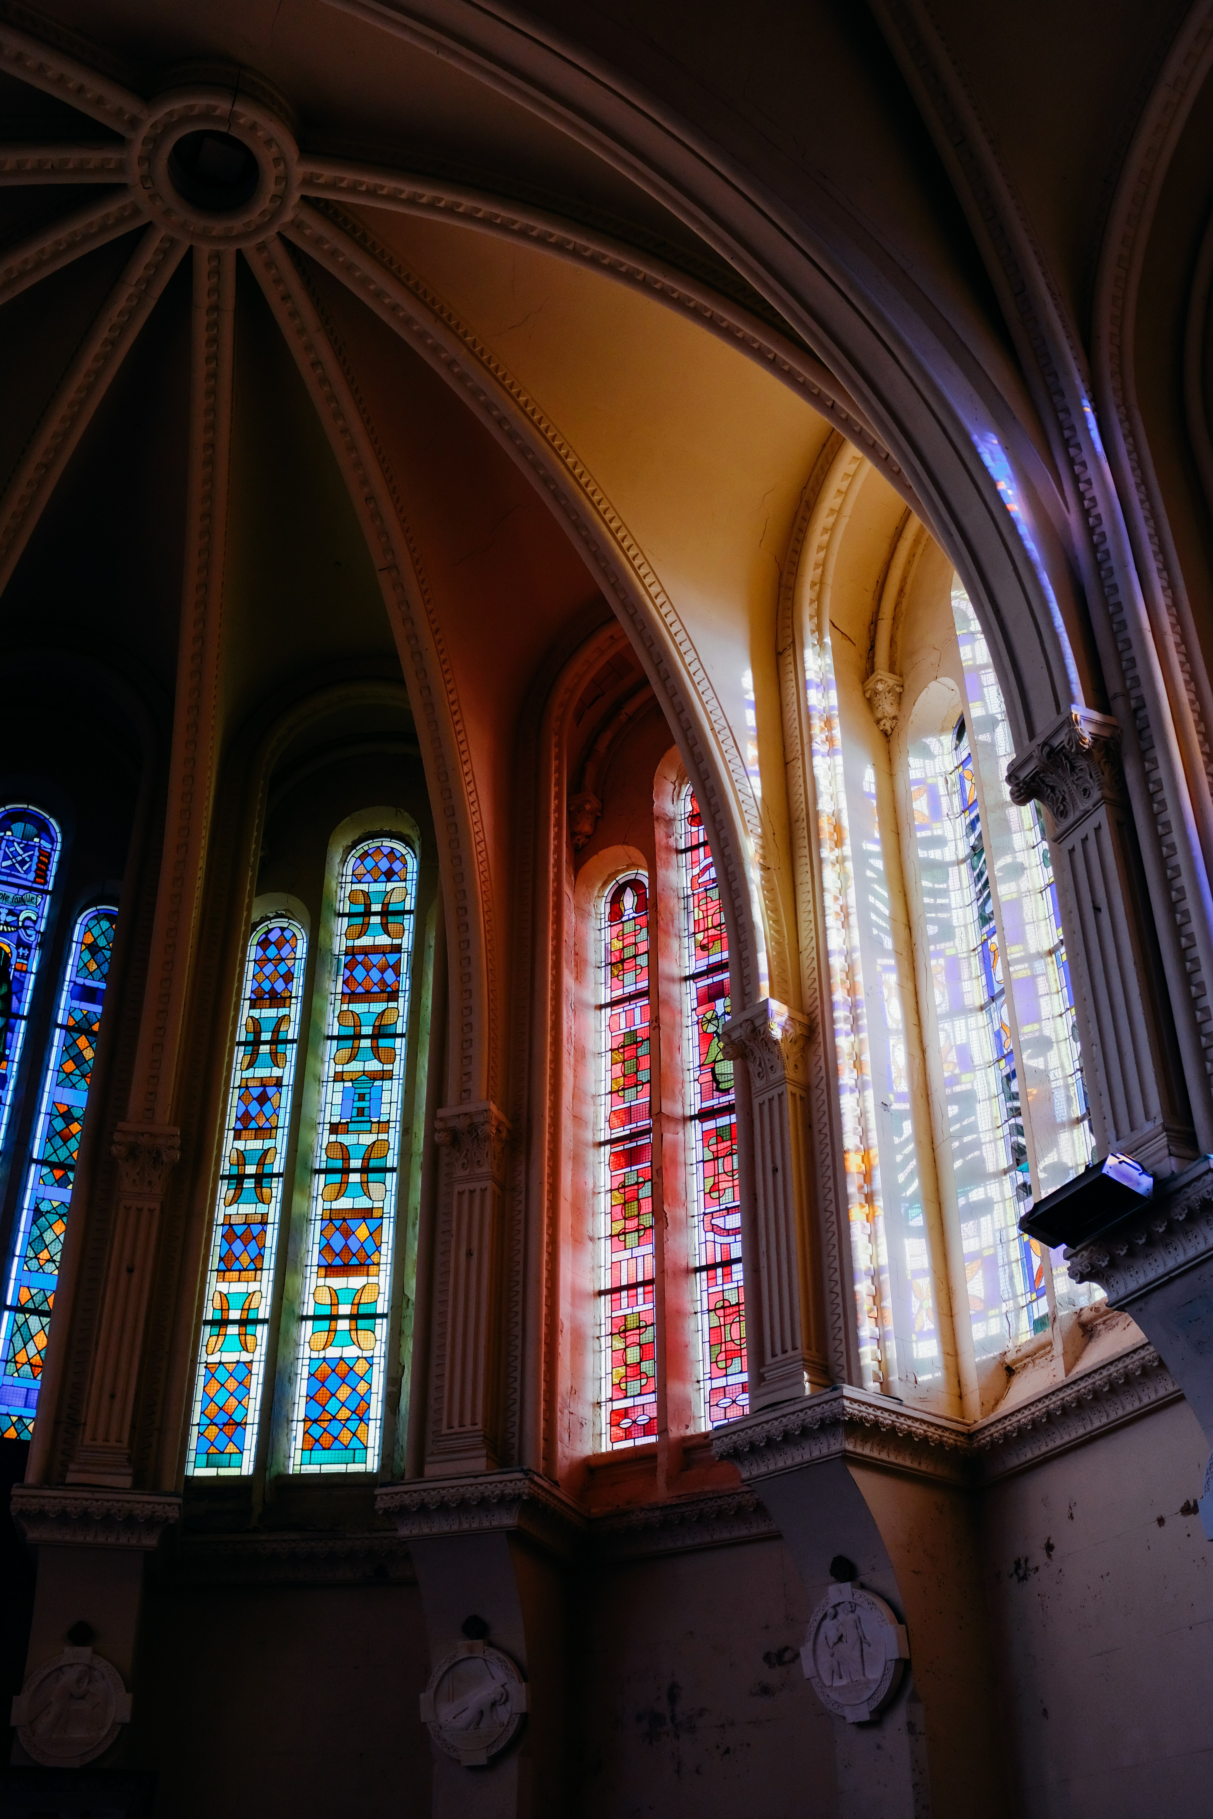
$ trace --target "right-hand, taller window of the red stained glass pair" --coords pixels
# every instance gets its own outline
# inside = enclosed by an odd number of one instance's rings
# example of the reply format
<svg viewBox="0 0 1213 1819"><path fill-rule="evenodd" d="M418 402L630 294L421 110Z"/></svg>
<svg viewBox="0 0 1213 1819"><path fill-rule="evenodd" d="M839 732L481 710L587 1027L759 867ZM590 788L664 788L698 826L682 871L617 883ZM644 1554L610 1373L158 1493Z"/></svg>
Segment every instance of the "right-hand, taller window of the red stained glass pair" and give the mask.
<svg viewBox="0 0 1213 1819"><path fill-rule="evenodd" d="M687 1162L691 1270L695 1277L698 1419L718 1428L749 1413L746 1282L737 1184L737 1099L724 1053L729 1020L729 937L704 817L691 789L678 840L684 902L684 1004L687 1055Z"/></svg>

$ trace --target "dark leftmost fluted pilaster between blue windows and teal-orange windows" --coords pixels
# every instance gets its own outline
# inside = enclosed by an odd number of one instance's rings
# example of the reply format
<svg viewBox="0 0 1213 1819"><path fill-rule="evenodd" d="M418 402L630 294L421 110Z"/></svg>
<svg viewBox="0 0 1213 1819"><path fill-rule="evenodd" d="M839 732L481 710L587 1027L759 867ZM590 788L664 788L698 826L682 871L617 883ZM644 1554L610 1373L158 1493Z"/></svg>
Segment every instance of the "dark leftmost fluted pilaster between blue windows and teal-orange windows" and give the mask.
<svg viewBox="0 0 1213 1819"><path fill-rule="evenodd" d="M144 1332L164 1188L180 1153L178 1139L173 1124L118 1124L115 1131L118 1208L84 1435L67 1472L69 1484L129 1488L133 1482L131 1422L140 1355L131 1335Z"/></svg>

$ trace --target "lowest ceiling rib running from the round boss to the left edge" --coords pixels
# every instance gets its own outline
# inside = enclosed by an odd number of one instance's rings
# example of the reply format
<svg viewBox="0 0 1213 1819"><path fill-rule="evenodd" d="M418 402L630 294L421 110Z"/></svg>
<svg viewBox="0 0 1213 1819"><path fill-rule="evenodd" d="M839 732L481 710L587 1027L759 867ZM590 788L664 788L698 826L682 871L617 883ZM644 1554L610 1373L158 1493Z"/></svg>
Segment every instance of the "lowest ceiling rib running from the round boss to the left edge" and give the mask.
<svg viewBox="0 0 1213 1819"><path fill-rule="evenodd" d="M149 227L96 313L0 498L0 589L16 568L93 411L105 397L111 378L184 253L184 240L173 238L160 227Z"/></svg>

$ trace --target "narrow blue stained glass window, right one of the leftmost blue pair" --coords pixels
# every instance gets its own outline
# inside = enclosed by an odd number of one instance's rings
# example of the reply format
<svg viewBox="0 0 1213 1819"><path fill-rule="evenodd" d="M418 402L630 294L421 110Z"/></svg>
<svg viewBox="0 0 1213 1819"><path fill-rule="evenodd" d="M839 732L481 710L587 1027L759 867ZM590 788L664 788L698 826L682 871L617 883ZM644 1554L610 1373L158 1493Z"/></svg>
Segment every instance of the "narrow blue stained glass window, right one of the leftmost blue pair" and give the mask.
<svg viewBox="0 0 1213 1819"><path fill-rule="evenodd" d="M87 910L64 968L0 1315L0 1439L5 1441L27 1441L35 1426L116 917L116 910Z"/></svg>

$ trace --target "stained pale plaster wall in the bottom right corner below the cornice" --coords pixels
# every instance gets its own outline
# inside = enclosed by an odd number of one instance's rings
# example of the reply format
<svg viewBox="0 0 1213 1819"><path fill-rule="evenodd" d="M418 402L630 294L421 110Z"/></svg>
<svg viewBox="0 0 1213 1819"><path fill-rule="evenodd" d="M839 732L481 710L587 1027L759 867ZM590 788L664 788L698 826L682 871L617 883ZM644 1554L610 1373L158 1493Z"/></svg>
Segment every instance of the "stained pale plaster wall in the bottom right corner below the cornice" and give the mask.
<svg viewBox="0 0 1213 1819"><path fill-rule="evenodd" d="M1015 1810L1209 1812L1208 1442L1184 1402L986 1497L986 1572Z"/></svg>

